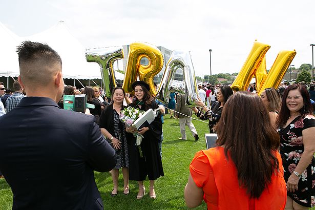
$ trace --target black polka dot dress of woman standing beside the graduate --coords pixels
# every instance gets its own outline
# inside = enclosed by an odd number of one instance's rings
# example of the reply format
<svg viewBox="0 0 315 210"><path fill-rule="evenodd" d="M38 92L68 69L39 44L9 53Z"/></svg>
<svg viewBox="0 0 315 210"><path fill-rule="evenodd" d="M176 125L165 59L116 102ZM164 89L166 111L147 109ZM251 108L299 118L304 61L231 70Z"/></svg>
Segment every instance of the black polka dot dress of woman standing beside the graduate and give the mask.
<svg viewBox="0 0 315 210"><path fill-rule="evenodd" d="M120 143L120 150L117 154L117 164L114 169L120 169L121 167L129 167L128 159L128 145L125 135L125 125L119 119L119 114L114 110L114 137L117 138Z"/></svg>

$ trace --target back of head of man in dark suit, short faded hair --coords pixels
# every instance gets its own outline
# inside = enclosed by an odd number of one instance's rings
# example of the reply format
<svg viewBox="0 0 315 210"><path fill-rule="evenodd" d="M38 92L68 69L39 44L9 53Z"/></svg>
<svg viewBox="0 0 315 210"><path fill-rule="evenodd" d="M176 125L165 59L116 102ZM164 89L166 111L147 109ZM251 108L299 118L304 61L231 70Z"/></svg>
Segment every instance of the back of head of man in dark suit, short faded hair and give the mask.
<svg viewBox="0 0 315 210"><path fill-rule="evenodd" d="M51 82L51 75L61 71L60 56L47 44L23 41L16 52L20 78L25 85L46 86Z"/></svg>

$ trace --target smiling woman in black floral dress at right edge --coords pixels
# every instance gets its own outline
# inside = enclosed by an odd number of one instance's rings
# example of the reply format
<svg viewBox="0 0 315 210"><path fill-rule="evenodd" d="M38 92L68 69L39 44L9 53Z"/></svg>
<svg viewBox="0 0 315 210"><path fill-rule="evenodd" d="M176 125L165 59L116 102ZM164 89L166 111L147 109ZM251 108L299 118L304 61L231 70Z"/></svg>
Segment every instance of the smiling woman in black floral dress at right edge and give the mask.
<svg viewBox="0 0 315 210"><path fill-rule="evenodd" d="M289 86L282 98L277 119L280 154L287 183L285 209L315 206L315 117L307 90Z"/></svg>

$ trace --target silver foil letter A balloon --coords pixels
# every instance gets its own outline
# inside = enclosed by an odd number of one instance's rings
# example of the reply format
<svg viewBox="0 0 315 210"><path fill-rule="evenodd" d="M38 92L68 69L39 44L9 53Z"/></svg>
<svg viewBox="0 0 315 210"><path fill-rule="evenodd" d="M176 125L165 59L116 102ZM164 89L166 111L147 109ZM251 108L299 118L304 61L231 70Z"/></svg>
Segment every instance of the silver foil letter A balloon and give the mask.
<svg viewBox="0 0 315 210"><path fill-rule="evenodd" d="M164 103L170 98L170 83L174 80L175 73L178 69L183 71L184 81L182 82L183 90L176 90L179 93L185 94L187 107L195 107L194 101L197 100L197 81L190 52L174 51L172 53L167 62L157 98Z"/></svg>

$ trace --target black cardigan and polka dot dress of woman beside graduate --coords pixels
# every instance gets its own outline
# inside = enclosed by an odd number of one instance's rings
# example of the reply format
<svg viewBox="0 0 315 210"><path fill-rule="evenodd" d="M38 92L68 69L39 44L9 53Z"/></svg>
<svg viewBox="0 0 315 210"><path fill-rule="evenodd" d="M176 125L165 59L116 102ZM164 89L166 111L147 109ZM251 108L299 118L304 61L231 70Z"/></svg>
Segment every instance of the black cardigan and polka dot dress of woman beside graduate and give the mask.
<svg viewBox="0 0 315 210"><path fill-rule="evenodd" d="M102 111L99 119L99 127L106 129L110 134L112 134L121 142L120 150L116 152L117 164L114 169L129 167L128 144L125 125L120 121L119 114L113 109L113 104L109 105ZM106 138L106 140L111 142L111 140L108 138Z"/></svg>

